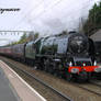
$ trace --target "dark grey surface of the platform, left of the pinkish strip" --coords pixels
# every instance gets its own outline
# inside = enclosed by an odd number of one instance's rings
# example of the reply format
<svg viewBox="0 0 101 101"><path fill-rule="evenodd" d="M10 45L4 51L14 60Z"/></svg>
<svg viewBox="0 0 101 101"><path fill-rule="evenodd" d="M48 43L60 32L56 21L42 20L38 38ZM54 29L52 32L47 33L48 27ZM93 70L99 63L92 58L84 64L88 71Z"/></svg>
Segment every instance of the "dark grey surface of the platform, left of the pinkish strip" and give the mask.
<svg viewBox="0 0 101 101"><path fill-rule="evenodd" d="M16 92L0 67L0 101L20 101Z"/></svg>

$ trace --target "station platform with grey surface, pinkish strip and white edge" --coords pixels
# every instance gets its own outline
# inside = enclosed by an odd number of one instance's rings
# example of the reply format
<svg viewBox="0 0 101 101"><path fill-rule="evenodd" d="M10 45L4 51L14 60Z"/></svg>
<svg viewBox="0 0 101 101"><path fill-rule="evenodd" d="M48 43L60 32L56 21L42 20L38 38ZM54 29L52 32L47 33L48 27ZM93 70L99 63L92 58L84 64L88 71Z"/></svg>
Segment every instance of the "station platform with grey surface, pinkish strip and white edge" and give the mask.
<svg viewBox="0 0 101 101"><path fill-rule="evenodd" d="M46 99L0 60L0 101L46 101Z"/></svg>

